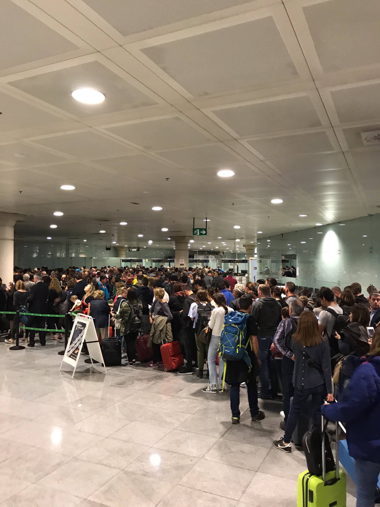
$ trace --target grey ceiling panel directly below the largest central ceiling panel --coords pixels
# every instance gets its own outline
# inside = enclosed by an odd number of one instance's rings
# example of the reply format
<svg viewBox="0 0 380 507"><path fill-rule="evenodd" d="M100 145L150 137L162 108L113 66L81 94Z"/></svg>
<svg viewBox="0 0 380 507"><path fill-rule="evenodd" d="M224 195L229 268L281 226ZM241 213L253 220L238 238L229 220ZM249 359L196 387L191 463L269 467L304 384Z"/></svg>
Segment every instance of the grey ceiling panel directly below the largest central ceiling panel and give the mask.
<svg viewBox="0 0 380 507"><path fill-rule="evenodd" d="M307 95L220 108L213 114L240 136L321 126Z"/></svg>

